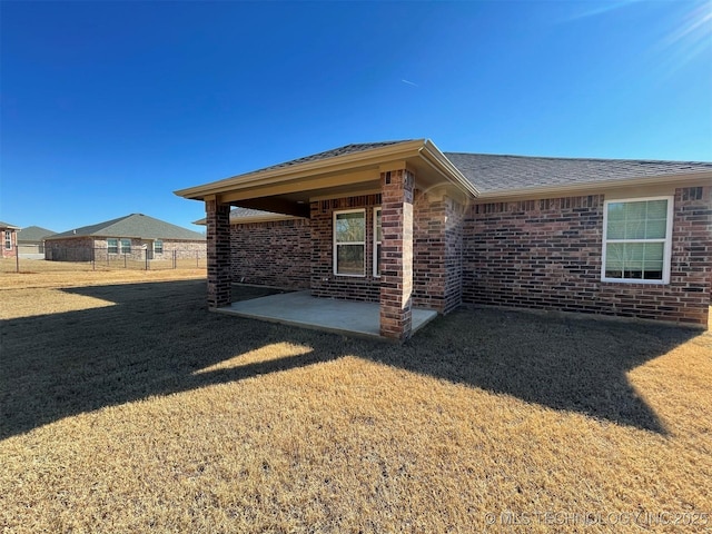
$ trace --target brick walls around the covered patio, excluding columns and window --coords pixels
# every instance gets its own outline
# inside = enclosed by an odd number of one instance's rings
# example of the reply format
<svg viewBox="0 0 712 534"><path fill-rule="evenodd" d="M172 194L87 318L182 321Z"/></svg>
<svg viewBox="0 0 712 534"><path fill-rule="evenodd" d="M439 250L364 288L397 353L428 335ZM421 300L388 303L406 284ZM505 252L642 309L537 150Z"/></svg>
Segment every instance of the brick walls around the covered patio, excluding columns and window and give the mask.
<svg viewBox="0 0 712 534"><path fill-rule="evenodd" d="M312 202L312 219L233 225L233 281L294 289L317 297L379 301L373 276L373 217L382 195ZM366 210L366 276L334 275L334 211ZM414 204L413 303L447 313L462 301L463 207L417 191Z"/></svg>

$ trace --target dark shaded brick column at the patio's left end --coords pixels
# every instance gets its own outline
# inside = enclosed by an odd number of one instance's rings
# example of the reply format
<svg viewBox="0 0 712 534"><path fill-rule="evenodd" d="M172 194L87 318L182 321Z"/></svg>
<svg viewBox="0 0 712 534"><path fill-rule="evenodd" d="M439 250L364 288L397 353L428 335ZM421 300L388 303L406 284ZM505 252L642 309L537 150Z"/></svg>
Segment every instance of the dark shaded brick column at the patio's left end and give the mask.
<svg viewBox="0 0 712 534"><path fill-rule="evenodd" d="M230 207L205 201L208 222L208 307L228 306L230 295Z"/></svg>

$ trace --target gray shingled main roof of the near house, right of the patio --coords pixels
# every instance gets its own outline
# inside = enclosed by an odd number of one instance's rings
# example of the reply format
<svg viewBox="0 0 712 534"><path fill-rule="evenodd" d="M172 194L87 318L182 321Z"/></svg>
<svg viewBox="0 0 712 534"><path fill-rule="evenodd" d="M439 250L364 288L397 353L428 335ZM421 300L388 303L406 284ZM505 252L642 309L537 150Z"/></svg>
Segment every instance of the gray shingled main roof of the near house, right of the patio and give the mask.
<svg viewBox="0 0 712 534"><path fill-rule="evenodd" d="M712 162L444 152L482 192L711 172Z"/></svg>

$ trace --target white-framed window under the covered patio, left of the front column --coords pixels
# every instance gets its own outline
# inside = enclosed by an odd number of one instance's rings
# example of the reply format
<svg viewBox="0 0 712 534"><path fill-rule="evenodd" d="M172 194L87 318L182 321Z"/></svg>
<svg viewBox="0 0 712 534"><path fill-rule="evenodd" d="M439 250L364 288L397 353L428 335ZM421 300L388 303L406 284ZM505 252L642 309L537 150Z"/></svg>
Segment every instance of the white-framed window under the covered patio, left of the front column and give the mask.
<svg viewBox="0 0 712 534"><path fill-rule="evenodd" d="M366 276L366 210L334 211L334 274Z"/></svg>

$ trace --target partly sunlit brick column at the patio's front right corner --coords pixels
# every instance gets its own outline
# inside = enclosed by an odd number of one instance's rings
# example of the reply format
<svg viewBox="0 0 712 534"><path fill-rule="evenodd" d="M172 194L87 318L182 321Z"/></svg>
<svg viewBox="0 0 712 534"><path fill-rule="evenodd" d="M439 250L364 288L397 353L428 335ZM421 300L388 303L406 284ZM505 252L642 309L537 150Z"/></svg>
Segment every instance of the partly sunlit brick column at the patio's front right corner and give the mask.
<svg viewBox="0 0 712 534"><path fill-rule="evenodd" d="M405 169L380 174L380 335L411 337L413 299L413 186Z"/></svg>

